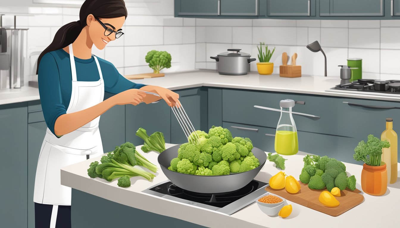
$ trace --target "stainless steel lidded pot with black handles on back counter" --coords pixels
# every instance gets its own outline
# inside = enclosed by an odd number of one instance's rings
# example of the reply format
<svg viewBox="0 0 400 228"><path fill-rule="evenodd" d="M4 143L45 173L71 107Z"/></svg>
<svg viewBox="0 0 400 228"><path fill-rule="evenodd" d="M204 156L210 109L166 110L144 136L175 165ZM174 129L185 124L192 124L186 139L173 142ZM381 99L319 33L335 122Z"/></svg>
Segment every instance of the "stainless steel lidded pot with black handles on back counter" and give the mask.
<svg viewBox="0 0 400 228"><path fill-rule="evenodd" d="M245 75L250 72L250 54L240 52L242 49L228 49L228 52L220 53L211 59L217 61L217 71L222 75Z"/></svg>

